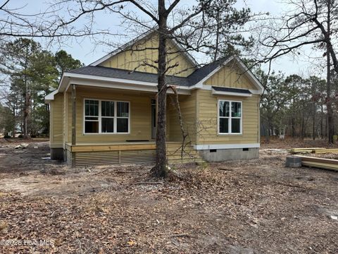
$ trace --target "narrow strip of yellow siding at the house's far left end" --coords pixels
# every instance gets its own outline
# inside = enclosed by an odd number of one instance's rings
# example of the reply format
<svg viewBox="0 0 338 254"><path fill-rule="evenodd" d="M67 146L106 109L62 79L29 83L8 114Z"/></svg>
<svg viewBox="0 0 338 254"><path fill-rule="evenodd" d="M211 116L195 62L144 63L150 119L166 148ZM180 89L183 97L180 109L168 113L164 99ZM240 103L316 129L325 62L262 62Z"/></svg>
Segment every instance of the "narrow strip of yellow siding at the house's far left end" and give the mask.
<svg viewBox="0 0 338 254"><path fill-rule="evenodd" d="M50 104L51 147L63 147L63 95L57 94Z"/></svg>

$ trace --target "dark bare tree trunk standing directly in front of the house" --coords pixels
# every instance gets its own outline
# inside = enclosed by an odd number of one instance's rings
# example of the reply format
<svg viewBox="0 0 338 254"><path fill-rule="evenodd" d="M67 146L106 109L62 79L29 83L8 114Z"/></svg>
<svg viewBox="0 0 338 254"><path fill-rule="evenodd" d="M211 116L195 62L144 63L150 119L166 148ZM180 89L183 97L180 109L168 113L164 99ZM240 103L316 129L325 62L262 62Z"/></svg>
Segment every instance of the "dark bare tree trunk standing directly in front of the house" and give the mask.
<svg viewBox="0 0 338 254"><path fill-rule="evenodd" d="M167 175L167 155L165 147L165 117L167 87L165 84L166 68L166 38L167 14L165 10L165 1L158 0L158 114L157 114L157 133L156 133L156 165L151 169L151 173L156 177L165 177Z"/></svg>

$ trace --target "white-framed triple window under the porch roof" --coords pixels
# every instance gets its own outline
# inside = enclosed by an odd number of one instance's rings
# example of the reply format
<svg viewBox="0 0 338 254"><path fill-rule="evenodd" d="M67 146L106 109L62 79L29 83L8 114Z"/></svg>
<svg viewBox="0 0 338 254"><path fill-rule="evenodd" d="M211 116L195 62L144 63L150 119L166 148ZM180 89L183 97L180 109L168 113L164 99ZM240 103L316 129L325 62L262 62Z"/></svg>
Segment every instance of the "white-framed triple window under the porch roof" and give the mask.
<svg viewBox="0 0 338 254"><path fill-rule="evenodd" d="M129 102L84 99L84 133L129 133Z"/></svg>

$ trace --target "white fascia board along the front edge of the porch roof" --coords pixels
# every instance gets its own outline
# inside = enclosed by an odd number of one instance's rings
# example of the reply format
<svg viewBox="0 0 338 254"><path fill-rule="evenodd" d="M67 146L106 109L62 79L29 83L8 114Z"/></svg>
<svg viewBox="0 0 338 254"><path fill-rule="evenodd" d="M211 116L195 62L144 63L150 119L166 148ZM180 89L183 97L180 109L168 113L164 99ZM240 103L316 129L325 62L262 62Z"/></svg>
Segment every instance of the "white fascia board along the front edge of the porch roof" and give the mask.
<svg viewBox="0 0 338 254"><path fill-rule="evenodd" d="M106 80L93 80L93 79L84 79L84 78L72 78L68 82L68 86L65 90L68 90L70 84L75 85L85 85L92 87L104 87L104 88L115 88L121 90L134 90L134 91L142 91L142 92L158 92L157 84L155 85L137 85L135 83L115 83ZM190 95L191 92L187 87L177 87L177 92L179 95ZM173 93L172 90L168 90L168 93Z"/></svg>

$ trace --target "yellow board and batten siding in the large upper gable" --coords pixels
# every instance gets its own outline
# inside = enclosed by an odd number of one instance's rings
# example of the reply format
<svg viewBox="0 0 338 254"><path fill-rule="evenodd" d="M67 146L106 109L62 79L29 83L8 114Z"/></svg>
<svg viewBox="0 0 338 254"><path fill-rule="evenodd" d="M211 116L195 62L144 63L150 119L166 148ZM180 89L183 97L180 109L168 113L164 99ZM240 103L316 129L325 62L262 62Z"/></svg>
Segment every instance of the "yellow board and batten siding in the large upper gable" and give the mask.
<svg viewBox="0 0 338 254"><path fill-rule="evenodd" d="M151 66L144 66L142 63L146 61L151 65L157 66L158 59L158 36L153 34L144 40L136 42L132 49L126 49L123 52L111 56L100 66L110 68L120 68L130 71L142 71L146 73L157 73L155 68ZM168 66L175 66L171 68L168 75L177 75L180 77L187 77L194 72L196 66L194 66L186 57L180 52L180 49L173 43L173 41L167 41L168 54Z"/></svg>

